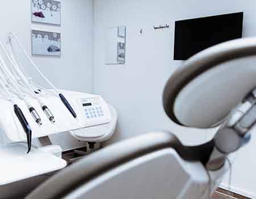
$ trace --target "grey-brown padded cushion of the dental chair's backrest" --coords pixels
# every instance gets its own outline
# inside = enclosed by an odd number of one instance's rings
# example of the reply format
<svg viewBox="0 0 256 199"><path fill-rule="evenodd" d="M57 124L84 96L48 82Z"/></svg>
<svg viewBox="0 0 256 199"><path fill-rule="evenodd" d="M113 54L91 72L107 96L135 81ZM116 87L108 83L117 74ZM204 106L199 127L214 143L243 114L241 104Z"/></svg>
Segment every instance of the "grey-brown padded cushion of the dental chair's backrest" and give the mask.
<svg viewBox="0 0 256 199"><path fill-rule="evenodd" d="M27 199L61 198L81 184L136 157L167 147L180 146L177 138L166 132L149 133L113 144L57 173L36 188Z"/></svg>

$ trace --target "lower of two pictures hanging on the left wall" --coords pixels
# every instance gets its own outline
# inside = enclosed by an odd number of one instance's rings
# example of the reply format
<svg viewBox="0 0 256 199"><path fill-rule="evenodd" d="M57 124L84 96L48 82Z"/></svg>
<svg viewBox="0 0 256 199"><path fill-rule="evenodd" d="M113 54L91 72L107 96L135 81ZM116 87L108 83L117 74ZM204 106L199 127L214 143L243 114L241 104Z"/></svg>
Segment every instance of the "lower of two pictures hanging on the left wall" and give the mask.
<svg viewBox="0 0 256 199"><path fill-rule="evenodd" d="M32 55L61 55L61 36L59 32L32 30Z"/></svg>

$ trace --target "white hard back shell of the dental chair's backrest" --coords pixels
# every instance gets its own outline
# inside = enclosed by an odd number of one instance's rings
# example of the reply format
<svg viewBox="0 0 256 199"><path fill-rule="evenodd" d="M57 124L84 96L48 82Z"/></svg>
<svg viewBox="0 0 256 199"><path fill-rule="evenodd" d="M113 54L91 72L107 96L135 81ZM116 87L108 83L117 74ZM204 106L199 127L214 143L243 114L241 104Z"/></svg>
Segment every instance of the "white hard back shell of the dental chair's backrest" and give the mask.
<svg viewBox="0 0 256 199"><path fill-rule="evenodd" d="M175 150L167 148L110 169L64 198L191 199L202 198L201 190L205 190L206 195L207 186L208 176L203 165L186 162Z"/></svg>

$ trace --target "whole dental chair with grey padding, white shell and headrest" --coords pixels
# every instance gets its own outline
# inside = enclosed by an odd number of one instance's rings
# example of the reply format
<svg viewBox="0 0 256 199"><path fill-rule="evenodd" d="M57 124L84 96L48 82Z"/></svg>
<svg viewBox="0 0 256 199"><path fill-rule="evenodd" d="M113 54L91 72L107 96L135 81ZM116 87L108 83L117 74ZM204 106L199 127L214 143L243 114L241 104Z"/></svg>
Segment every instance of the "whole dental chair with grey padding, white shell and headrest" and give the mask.
<svg viewBox="0 0 256 199"><path fill-rule="evenodd" d="M171 132L131 138L63 169L27 199L209 198L227 159L256 130L255 55L256 38L222 43L185 61L168 80L166 114L183 127L216 128L209 142L184 146Z"/></svg>

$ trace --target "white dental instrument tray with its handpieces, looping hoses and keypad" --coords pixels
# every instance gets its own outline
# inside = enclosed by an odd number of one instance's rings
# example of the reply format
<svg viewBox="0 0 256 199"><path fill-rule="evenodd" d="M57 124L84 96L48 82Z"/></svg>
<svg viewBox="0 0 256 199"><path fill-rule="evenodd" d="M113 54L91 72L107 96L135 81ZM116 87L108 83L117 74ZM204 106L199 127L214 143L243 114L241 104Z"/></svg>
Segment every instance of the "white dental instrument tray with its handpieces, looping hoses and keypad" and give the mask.
<svg viewBox="0 0 256 199"><path fill-rule="evenodd" d="M31 66L38 71L44 80L46 80L52 87L52 90L44 89L28 78L19 57L15 55L13 47L14 40L19 45L20 49L22 49L28 61L30 61ZM2 110L6 113L5 118L3 119L4 121L2 122L8 122L9 124L13 123L13 128L11 128L11 130L5 129L7 136L11 140L15 142L24 140L24 133L26 134L28 146L27 153L31 150L32 138L39 138L40 136L58 132L58 128L59 132L61 132L77 130L88 127L88 125L94 126L98 121L102 124L110 122L110 111L100 96L83 98L82 93L63 91L63 93L66 93L68 98L73 102L77 100L74 99L73 96L81 96L80 98L78 97L79 101L77 101L77 104L80 103L80 107L77 108L80 109L79 111L81 113L77 115L73 106L79 105L76 104L72 106L64 97L64 94L56 89L46 76L40 72L39 68L36 67L27 55L27 52L24 51L22 44L20 44L13 32L9 34L7 46L5 47L0 43L0 47L2 50L2 55L0 56L0 84L2 93L4 94L1 106L3 106ZM10 109L10 103L12 104L14 111L8 111ZM90 112L90 115L88 114L89 112L85 113L86 106L91 106L91 109L94 109L93 106L95 106L97 113L96 111L93 111L93 113ZM12 112L15 113L16 117L14 117ZM28 112L30 114L28 114ZM92 121L88 123L84 118L92 119ZM68 123L65 121L66 119L69 121ZM20 128L20 126L22 128ZM15 131L18 132L18 134L15 134Z"/></svg>

